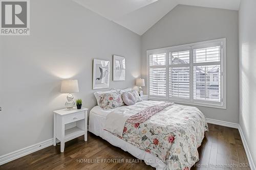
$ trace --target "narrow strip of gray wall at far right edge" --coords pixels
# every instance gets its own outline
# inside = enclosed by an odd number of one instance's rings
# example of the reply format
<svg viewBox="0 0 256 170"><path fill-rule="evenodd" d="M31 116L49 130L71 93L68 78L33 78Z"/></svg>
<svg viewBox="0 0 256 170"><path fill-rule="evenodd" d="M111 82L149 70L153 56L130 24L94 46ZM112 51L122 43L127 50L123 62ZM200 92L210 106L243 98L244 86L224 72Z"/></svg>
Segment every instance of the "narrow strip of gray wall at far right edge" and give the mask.
<svg viewBox="0 0 256 170"><path fill-rule="evenodd" d="M256 165L256 1L242 0L239 10L240 116L249 151Z"/></svg>

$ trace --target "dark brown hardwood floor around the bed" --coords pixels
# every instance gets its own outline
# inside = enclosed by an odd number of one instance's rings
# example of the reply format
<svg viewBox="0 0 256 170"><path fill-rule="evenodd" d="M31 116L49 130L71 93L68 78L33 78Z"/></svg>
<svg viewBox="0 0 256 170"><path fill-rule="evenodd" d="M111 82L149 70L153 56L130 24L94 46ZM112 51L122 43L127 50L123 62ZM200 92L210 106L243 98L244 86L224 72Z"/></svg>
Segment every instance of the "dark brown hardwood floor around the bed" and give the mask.
<svg viewBox="0 0 256 170"><path fill-rule="evenodd" d="M238 130L208 125L209 132L205 133L202 145L198 149L200 160L191 169L250 169L247 166L248 160ZM116 162L97 163L98 160L104 161L104 159L113 159ZM83 160L92 162L83 162ZM64 153L60 153L60 145L50 146L1 165L0 169L150 170L155 168L89 132L87 142L83 141L82 136L66 142Z"/></svg>

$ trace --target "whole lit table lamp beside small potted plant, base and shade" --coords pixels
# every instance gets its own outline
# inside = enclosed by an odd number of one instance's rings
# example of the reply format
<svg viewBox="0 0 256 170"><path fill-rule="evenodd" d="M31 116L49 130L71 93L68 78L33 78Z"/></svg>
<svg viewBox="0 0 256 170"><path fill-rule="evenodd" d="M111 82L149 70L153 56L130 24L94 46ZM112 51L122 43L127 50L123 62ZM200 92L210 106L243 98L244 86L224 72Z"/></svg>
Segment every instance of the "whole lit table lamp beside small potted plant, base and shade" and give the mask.
<svg viewBox="0 0 256 170"><path fill-rule="evenodd" d="M79 92L78 81L77 80L62 80L60 92L61 93L69 93L67 95L68 101L65 103L65 106L68 110L73 109L73 107L75 107L75 102L73 101L74 96L71 93Z"/></svg>

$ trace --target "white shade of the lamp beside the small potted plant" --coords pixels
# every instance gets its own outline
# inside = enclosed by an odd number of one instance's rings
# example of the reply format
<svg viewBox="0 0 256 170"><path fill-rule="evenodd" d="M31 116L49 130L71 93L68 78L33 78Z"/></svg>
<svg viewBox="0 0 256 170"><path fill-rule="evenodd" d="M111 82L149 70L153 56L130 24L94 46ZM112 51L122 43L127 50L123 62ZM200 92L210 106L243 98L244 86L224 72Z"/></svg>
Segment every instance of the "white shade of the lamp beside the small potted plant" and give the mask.
<svg viewBox="0 0 256 170"><path fill-rule="evenodd" d="M77 93L78 89L78 81L77 80L62 80L61 82L61 93Z"/></svg>

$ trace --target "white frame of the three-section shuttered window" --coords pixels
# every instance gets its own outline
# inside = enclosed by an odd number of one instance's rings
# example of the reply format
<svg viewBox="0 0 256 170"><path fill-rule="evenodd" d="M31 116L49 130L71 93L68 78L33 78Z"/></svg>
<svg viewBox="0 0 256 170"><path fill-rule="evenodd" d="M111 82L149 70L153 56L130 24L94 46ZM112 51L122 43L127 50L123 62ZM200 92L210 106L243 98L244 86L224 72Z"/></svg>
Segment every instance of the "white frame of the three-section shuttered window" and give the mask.
<svg viewBox="0 0 256 170"><path fill-rule="evenodd" d="M205 63L194 63L194 55L193 50L196 48L204 48L209 47L211 45L221 45L221 58L218 62L205 62ZM169 53L172 54L177 51L187 51L189 49L190 56L189 56L189 99L181 99L181 98L171 98L169 97ZM165 53L165 66L161 66L162 68L165 67L166 70L166 96L152 96L150 95L150 55L153 54L159 54L159 53ZM194 100L194 66L197 65L219 65L220 63L220 100L221 102L214 102L214 101L204 101L204 100ZM173 64L175 67L181 67L187 64ZM149 100L159 100L159 101L170 101L175 102L179 104L186 104L186 105L195 105L195 106L204 106L204 107L212 107L212 108L219 108L219 109L226 109L226 38L220 38L220 39L214 39L214 40L208 40L208 41L201 41L201 42L195 42L195 43L189 43L189 44L183 44L183 45L176 45L176 46L170 46L170 47L164 47L164 48L158 48L158 49L152 49L146 51L146 84L147 84L147 94ZM221 104L220 104L221 103Z"/></svg>

